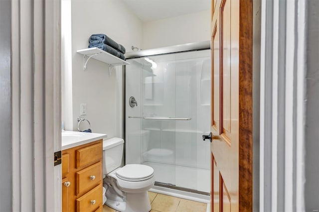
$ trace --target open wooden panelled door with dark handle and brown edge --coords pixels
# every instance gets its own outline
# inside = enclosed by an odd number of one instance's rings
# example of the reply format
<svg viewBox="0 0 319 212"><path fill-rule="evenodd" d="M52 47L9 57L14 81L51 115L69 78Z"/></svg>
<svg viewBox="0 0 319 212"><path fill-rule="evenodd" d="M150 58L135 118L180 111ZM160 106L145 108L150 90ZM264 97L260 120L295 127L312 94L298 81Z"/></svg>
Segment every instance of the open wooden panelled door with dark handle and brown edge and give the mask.
<svg viewBox="0 0 319 212"><path fill-rule="evenodd" d="M212 0L211 211L252 211L252 0Z"/></svg>

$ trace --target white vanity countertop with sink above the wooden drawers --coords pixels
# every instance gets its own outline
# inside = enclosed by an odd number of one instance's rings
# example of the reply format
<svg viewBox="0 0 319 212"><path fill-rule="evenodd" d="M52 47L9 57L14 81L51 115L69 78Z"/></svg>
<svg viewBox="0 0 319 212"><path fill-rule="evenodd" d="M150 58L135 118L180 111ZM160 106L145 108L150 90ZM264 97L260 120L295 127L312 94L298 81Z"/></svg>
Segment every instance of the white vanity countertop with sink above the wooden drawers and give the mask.
<svg viewBox="0 0 319 212"><path fill-rule="evenodd" d="M69 149L75 146L90 143L92 141L106 138L107 134L90 133L90 132L76 132L76 131L62 131L62 150Z"/></svg>

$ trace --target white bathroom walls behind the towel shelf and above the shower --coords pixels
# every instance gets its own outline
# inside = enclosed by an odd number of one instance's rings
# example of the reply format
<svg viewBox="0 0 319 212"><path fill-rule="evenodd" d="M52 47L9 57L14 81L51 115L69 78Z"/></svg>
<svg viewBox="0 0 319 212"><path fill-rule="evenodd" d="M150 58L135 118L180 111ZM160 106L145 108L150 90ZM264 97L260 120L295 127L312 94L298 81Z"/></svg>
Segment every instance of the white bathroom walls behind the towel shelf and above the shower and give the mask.
<svg viewBox="0 0 319 212"><path fill-rule="evenodd" d="M131 51L132 45L148 49L209 40L209 10L143 23L123 1L65 1L72 4L72 24L69 25L72 41L64 40L65 60L72 60L72 63L63 63L62 59L65 130L77 130L80 104L85 103L85 118L91 122L93 132L107 133L109 137L122 135L122 68L117 67L116 74L113 71L110 77L107 64L91 60L83 71L82 55L76 53L78 49L87 48L91 34L105 33L124 45L127 51ZM71 42L69 50L68 42ZM82 129L86 127L83 123Z"/></svg>

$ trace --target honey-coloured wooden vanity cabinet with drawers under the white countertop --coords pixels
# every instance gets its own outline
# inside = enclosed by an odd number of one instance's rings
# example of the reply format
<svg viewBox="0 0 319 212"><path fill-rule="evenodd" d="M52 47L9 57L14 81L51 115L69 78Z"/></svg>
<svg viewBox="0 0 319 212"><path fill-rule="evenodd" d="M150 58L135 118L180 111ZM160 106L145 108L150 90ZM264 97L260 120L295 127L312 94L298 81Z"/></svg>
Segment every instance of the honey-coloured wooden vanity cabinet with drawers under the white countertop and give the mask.
<svg viewBox="0 0 319 212"><path fill-rule="evenodd" d="M62 151L62 212L103 208L103 140Z"/></svg>

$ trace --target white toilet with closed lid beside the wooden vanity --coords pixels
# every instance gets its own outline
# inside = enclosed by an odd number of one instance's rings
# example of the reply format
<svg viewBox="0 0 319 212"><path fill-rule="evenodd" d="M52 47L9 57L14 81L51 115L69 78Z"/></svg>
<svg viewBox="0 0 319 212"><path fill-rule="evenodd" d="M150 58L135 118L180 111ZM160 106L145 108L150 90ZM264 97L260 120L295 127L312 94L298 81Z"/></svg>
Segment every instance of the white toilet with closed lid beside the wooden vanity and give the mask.
<svg viewBox="0 0 319 212"><path fill-rule="evenodd" d="M149 212L148 190L154 186L154 169L142 164L128 164L121 168L124 140L103 141L103 186L106 205L120 212Z"/></svg>

